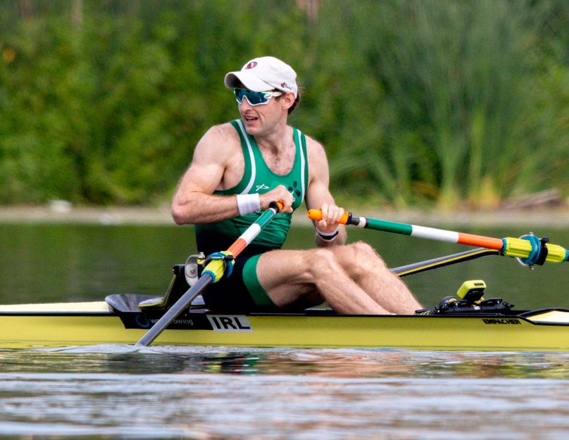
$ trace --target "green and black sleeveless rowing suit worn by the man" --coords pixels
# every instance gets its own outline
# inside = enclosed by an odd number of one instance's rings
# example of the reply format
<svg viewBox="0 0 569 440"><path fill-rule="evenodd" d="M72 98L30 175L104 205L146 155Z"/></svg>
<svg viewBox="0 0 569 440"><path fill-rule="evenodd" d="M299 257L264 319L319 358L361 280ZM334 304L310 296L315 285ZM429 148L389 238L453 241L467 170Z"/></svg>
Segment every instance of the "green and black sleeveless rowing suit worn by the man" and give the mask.
<svg viewBox="0 0 569 440"><path fill-rule="evenodd" d="M263 194L278 185L284 185L293 195L292 208L296 210L306 194L308 184L308 160L306 157L306 137L304 133L293 128L295 159L291 171L287 175L273 173L261 154L257 142L245 131L243 122L231 121L241 139L245 171L241 181L228 190L216 190L214 195ZM205 255L225 250L245 230L258 219L259 212L245 214L218 223L196 225L196 242L199 251ZM261 287L256 275L258 255L269 250L280 249L285 243L291 226L292 213L279 212L274 219L263 228L238 256L233 274L218 283L208 286L203 294L208 307L243 308L247 303L251 307L275 307L265 289ZM256 258L251 258L257 256Z"/></svg>

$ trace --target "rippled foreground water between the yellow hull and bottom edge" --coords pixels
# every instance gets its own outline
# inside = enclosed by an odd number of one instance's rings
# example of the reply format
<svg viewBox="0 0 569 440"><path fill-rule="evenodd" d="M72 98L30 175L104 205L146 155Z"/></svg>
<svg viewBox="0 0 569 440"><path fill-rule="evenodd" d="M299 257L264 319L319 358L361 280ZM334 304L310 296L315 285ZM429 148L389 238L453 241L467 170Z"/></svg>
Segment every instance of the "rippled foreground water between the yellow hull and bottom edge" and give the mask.
<svg viewBox="0 0 569 440"><path fill-rule="evenodd" d="M0 435L561 439L569 428L569 353L94 346L0 360Z"/></svg>

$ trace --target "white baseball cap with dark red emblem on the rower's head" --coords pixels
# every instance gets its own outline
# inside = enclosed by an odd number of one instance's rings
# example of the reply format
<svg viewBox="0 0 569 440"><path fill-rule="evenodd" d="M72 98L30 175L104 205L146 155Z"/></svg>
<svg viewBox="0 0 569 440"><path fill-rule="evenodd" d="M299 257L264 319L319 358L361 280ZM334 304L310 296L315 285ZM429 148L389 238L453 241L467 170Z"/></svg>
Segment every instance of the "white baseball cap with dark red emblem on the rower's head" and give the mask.
<svg viewBox="0 0 569 440"><path fill-rule="evenodd" d="M225 87L233 89L242 83L252 91L282 90L298 94L296 72L274 56L261 56L245 63L238 72L225 75Z"/></svg>

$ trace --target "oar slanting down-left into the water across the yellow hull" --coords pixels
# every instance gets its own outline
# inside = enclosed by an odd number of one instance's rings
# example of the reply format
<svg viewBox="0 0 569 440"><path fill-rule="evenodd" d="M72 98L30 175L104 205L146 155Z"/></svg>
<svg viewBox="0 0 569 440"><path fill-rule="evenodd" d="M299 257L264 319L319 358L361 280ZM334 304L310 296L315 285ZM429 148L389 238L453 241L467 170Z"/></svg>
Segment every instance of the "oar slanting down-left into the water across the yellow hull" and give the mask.
<svg viewBox="0 0 569 440"><path fill-rule="evenodd" d="M249 228L247 228L226 251L216 252L216 254L210 255L210 257L214 258L211 259L210 263L203 268L203 272L201 272L201 277L197 283L190 287L190 289L188 289L188 291L183 294L159 320L157 320L155 325L153 325L153 327L151 327L150 330L140 338L140 341L138 341L136 345L148 347L148 345L152 344L159 334L162 333L168 325L170 325L170 322L175 320L177 316L181 314L183 309L186 309L186 307L192 303L194 298L201 294L207 285L221 280L225 272L226 261L232 260L234 257L238 256L238 254L241 254L241 251L243 251L243 249L245 249L247 245L255 239L259 232L265 228L265 225L267 225L267 223L269 223L269 221L271 221L275 214L281 209L281 203L271 201L269 209L263 212L263 214L261 214L260 217L252 223L252 225L250 225ZM231 274L230 271L228 272L227 276Z"/></svg>

